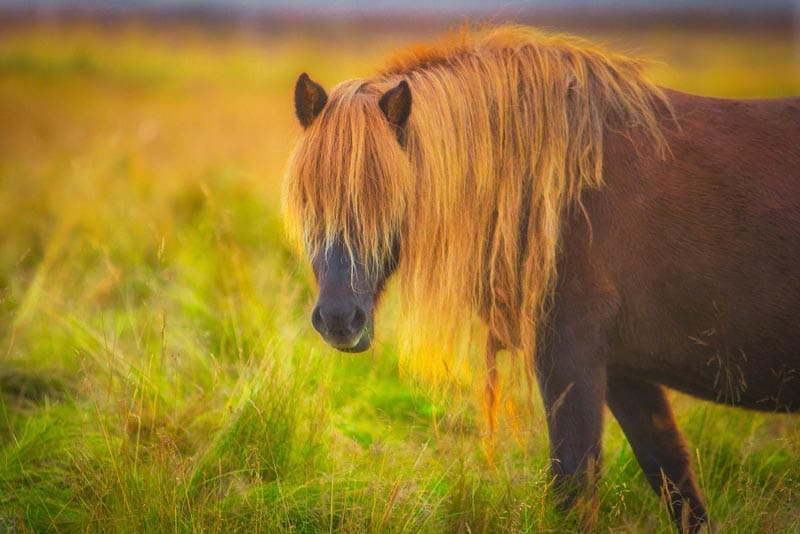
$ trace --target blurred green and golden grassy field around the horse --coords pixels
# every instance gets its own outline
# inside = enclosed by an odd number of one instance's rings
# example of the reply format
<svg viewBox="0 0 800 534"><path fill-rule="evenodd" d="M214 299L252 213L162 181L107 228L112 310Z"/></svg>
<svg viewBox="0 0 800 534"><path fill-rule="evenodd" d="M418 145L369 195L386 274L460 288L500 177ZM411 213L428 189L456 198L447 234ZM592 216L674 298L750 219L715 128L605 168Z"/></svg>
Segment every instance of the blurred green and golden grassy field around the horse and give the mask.
<svg viewBox="0 0 800 534"><path fill-rule="evenodd" d="M717 96L800 94L768 32L588 35ZM475 387L326 347L286 243L298 73L418 35L0 34L0 531L563 532L541 406L486 454ZM521 386L524 389L524 386ZM513 388L510 388L510 390ZM673 395L719 532L800 532L800 419ZM673 532L608 416L598 531Z"/></svg>

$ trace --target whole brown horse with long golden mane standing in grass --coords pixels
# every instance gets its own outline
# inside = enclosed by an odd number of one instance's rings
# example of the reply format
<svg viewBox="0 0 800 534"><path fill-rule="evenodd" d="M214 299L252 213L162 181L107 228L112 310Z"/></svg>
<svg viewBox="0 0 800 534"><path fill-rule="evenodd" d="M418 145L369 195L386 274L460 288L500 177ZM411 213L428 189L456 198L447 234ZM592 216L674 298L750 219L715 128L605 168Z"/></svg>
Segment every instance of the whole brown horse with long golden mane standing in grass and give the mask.
<svg viewBox="0 0 800 534"><path fill-rule="evenodd" d="M289 234L338 350L448 367L486 332L539 386L562 504L594 480L604 405L682 531L708 521L665 388L800 411L800 99L724 100L639 61L505 25L390 58L294 104ZM450 365L452 367L452 365Z"/></svg>

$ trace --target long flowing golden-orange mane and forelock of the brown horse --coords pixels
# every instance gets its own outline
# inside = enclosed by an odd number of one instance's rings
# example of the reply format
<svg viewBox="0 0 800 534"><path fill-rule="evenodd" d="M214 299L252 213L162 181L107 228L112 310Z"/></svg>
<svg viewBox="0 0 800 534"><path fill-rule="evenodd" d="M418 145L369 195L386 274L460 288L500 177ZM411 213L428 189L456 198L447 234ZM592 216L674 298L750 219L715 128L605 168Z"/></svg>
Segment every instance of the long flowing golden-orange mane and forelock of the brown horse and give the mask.
<svg viewBox="0 0 800 534"><path fill-rule="evenodd" d="M413 95L403 147L377 105L400 80ZM663 153L659 105L640 63L581 40L518 26L453 34L333 89L290 163L289 229L311 256L341 236L370 269L399 240L412 369L462 373L481 328L530 365L562 218L603 185L608 121Z"/></svg>

